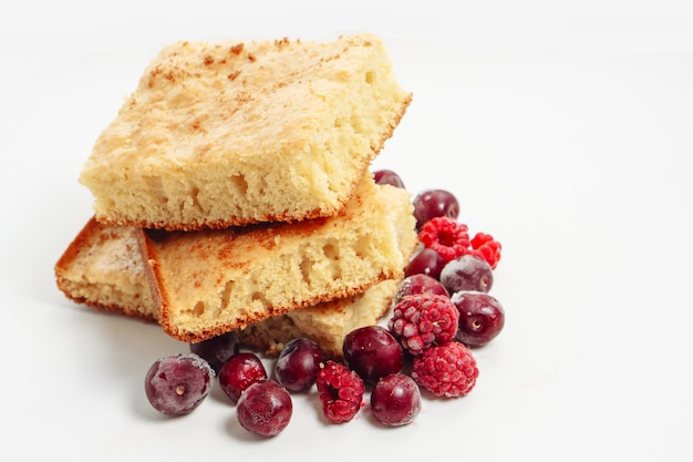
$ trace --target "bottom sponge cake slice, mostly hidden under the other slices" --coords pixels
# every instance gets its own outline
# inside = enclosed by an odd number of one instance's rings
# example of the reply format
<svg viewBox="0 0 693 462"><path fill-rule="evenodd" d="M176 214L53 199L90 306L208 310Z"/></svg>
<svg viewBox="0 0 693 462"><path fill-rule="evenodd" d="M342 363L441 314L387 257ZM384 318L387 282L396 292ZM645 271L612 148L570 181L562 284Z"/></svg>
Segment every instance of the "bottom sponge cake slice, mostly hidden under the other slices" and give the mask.
<svg viewBox="0 0 693 462"><path fill-rule="evenodd" d="M55 277L59 289L74 302L148 321L158 319L132 227L103 225L92 217L56 263ZM399 284L399 278L387 279L353 297L272 316L239 330L239 340L276 356L289 340L310 338L325 355L340 358L344 336L377 324Z"/></svg>

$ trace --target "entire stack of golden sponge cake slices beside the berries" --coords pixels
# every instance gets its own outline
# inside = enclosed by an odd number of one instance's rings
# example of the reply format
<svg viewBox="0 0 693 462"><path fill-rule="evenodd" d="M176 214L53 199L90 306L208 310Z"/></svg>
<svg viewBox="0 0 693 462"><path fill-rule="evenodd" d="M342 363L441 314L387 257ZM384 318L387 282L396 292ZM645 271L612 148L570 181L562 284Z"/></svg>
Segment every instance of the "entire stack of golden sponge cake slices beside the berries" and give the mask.
<svg viewBox="0 0 693 462"><path fill-rule="evenodd" d="M410 101L370 34L165 48L86 161L59 288L183 341L339 356L416 245L408 193L369 172Z"/></svg>

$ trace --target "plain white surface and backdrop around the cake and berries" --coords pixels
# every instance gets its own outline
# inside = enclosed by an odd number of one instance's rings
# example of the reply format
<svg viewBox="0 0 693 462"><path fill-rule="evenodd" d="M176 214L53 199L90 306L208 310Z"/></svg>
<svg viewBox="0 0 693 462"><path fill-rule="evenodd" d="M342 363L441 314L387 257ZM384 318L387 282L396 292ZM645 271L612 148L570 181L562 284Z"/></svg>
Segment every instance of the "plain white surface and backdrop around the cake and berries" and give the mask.
<svg viewBox="0 0 693 462"><path fill-rule="evenodd" d="M0 7L2 460L693 460L686 2L184 3ZM91 215L92 143L172 40L361 30L415 95L375 166L455 192L461 219L504 245L507 324L477 351L476 389L392 430L366 412L324 424L297 397L259 441L218 390L161 418L144 374L185 346L54 285Z"/></svg>

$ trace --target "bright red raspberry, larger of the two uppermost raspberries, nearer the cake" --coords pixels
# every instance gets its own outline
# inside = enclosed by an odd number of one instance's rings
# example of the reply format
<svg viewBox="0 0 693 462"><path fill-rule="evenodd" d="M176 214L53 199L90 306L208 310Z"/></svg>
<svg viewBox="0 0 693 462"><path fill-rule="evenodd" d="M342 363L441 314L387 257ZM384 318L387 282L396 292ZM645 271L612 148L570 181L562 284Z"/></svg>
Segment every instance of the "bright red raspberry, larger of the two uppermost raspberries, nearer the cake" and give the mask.
<svg viewBox="0 0 693 462"><path fill-rule="evenodd" d="M418 232L418 240L424 247L436 250L445 261L466 254L469 248L467 225L446 216L426 222Z"/></svg>

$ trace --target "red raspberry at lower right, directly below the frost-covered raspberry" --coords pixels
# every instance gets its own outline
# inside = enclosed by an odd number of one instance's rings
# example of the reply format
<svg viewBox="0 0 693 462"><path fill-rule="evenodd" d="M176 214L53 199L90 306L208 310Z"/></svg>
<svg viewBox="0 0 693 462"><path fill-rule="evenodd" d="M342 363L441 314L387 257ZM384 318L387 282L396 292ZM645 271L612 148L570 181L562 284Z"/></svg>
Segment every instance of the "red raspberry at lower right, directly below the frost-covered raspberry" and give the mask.
<svg viewBox="0 0 693 462"><path fill-rule="evenodd" d="M472 350L457 341L431 347L412 363L412 378L436 397L464 397L478 374Z"/></svg>

